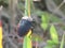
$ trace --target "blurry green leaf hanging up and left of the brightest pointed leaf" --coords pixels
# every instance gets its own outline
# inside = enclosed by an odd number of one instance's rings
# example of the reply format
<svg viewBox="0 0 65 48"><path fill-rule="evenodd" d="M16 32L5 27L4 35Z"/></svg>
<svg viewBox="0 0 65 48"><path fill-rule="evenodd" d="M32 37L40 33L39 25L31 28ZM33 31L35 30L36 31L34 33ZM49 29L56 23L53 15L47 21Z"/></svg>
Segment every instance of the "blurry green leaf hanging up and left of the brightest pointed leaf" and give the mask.
<svg viewBox="0 0 65 48"><path fill-rule="evenodd" d="M42 16L41 16L41 28L43 29L43 30L47 30L47 28L48 28L48 23L49 23L49 16L48 16L48 14L43 14Z"/></svg>

